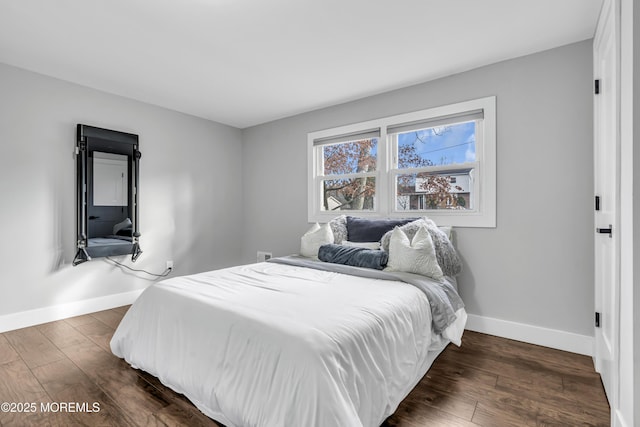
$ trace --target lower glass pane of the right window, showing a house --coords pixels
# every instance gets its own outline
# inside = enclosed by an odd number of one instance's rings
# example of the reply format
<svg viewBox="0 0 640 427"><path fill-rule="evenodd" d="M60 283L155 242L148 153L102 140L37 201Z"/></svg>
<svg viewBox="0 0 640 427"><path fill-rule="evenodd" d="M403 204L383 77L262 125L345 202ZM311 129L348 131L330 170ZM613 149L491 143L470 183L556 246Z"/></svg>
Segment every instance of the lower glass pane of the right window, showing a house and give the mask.
<svg viewBox="0 0 640 427"><path fill-rule="evenodd" d="M472 209L471 171L396 176L396 209Z"/></svg>

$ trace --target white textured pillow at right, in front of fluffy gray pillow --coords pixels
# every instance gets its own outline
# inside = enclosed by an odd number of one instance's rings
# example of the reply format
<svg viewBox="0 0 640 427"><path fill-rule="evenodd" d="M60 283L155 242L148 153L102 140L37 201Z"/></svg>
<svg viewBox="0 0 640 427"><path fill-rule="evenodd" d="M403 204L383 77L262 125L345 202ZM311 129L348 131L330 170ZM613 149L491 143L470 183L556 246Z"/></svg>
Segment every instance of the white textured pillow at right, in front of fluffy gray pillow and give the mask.
<svg viewBox="0 0 640 427"><path fill-rule="evenodd" d="M393 229L389 240L389 262L385 270L442 279L442 269L438 265L433 240L426 226L420 226L411 241L400 227Z"/></svg>

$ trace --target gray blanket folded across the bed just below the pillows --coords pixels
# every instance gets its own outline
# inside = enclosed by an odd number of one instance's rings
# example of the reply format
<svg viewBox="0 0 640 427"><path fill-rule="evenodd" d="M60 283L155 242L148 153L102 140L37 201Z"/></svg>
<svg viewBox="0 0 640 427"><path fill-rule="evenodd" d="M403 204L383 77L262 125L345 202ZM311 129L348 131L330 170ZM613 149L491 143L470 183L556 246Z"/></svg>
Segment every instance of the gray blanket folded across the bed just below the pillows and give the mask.
<svg viewBox="0 0 640 427"><path fill-rule="evenodd" d="M268 262L315 268L316 270L333 271L336 273L351 274L352 276L369 277L371 279L399 280L409 283L420 289L429 299L431 317L433 319L432 328L436 334L442 334L449 325L453 324L457 319L456 312L464 307L460 295L458 295L458 292L447 280L446 276L441 282L437 282L418 274L330 264L327 262L314 261L311 258L298 255L271 258Z"/></svg>

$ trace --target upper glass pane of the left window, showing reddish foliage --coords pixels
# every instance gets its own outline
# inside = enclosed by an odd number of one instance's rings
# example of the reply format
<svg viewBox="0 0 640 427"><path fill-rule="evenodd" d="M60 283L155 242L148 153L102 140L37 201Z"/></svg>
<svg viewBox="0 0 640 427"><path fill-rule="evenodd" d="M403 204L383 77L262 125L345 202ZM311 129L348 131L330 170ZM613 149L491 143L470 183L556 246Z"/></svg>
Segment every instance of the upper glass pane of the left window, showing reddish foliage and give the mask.
<svg viewBox="0 0 640 427"><path fill-rule="evenodd" d="M322 145L324 175L373 172L376 170L378 138Z"/></svg>

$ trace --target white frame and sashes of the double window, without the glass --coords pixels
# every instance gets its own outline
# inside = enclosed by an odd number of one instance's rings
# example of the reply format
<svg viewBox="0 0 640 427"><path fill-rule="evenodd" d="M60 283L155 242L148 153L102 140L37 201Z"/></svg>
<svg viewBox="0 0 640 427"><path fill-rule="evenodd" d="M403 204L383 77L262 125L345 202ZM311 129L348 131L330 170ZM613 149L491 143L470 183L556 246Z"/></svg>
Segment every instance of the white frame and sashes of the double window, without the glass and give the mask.
<svg viewBox="0 0 640 427"><path fill-rule="evenodd" d="M428 209L400 211L395 204L396 175L410 173L412 169L396 169L396 145L392 143L387 128L403 123L437 120L441 117L482 111L483 119L476 122L476 160L465 164L429 167L430 171L460 170L473 168L472 209ZM374 210L367 211L333 211L322 210L322 180L331 177L323 176L321 149L318 141L356 135L379 129L376 177L376 196ZM496 227L496 97L490 96L470 101L459 102L411 113L384 117L366 122L311 132L307 135L308 158L308 220L309 222L328 222L341 215L353 215L377 218L402 218L428 216L438 225L456 227ZM423 168L418 168L422 170ZM416 170L418 170L416 169ZM340 178L344 177L342 175Z"/></svg>

